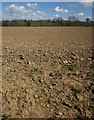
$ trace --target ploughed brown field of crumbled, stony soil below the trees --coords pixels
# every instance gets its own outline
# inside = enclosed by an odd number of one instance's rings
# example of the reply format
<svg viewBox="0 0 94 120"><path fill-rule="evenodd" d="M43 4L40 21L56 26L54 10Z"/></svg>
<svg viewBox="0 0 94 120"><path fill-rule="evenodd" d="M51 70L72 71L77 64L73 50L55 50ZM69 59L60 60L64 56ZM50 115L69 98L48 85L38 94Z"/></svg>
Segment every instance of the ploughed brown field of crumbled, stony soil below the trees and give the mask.
<svg viewBox="0 0 94 120"><path fill-rule="evenodd" d="M91 27L2 28L2 109L10 118L94 117Z"/></svg>

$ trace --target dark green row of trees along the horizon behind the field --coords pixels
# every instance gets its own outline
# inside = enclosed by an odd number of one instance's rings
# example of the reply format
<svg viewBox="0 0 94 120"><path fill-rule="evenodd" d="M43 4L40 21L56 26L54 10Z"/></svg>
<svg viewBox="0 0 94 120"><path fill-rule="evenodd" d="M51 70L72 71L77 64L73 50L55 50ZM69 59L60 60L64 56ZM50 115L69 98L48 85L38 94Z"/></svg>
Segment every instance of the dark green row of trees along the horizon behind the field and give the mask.
<svg viewBox="0 0 94 120"><path fill-rule="evenodd" d="M68 17L68 20L62 18L54 18L52 20L3 20L0 26L23 26L23 27L38 27L38 26L92 26L94 21L86 18L85 21L79 21L75 17Z"/></svg>

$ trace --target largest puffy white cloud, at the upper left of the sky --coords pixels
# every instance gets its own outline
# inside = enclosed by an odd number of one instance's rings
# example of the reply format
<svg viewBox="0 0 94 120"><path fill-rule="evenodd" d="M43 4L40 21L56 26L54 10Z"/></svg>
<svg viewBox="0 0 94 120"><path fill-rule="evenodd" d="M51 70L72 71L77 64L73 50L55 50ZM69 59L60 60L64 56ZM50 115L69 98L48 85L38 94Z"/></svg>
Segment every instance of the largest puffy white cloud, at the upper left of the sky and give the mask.
<svg viewBox="0 0 94 120"><path fill-rule="evenodd" d="M8 11L11 12L11 13L15 13L15 12L27 13L27 12L30 12L30 10L26 10L24 6L17 6L15 4L11 4L8 7Z"/></svg>

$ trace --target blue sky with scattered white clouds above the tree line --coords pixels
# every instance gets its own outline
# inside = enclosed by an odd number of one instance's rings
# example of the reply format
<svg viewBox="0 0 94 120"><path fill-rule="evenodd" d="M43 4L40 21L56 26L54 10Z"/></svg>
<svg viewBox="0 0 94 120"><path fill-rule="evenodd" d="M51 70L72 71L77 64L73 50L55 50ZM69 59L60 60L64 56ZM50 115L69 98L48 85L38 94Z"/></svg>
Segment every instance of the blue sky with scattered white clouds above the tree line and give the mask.
<svg viewBox="0 0 94 120"><path fill-rule="evenodd" d="M11 2L12 1L12 2ZM17 0L16 0L17 1ZM79 20L84 21L87 17L92 19L92 3L91 0L85 0L87 2L24 2L25 0L10 0L7 2L0 2L0 8L2 7L3 20L13 19L53 19L62 17L67 20L68 16L76 16ZM22 1L22 2L21 2ZM80 0L79 0L80 1ZM2 6L1 6L2 4ZM0 15L1 18L1 15Z"/></svg>

